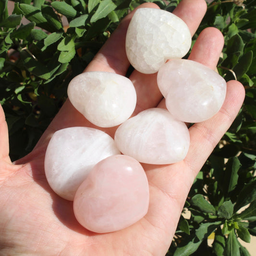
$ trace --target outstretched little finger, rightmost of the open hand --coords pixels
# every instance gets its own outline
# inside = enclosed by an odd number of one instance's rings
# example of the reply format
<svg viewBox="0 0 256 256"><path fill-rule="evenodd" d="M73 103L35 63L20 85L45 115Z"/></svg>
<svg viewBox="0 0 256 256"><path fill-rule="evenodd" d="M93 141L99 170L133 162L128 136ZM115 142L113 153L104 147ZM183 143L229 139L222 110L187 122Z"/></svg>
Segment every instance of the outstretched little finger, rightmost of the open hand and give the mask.
<svg viewBox="0 0 256 256"><path fill-rule="evenodd" d="M194 178L221 137L231 126L244 101L244 86L238 81L227 83L227 95L222 108L211 119L189 128L190 148L185 162Z"/></svg>

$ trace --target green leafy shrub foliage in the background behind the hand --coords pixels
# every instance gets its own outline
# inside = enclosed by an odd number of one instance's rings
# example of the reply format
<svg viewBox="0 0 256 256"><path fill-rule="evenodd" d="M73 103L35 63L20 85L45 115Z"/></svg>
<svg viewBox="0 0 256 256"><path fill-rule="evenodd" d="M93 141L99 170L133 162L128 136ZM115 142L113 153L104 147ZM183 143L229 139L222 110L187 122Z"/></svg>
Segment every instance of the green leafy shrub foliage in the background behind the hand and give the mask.
<svg viewBox="0 0 256 256"><path fill-rule="evenodd" d="M170 12L180 2L148 1ZM0 103L15 160L33 149L65 101L69 81L84 70L129 10L145 1L17 0L11 15L7 2L0 0ZM22 24L23 17L28 24ZM199 172L184 207L190 217L181 216L167 255L248 256L237 237L249 243L250 235L256 235L256 0L208 3L193 42L208 26L225 37L219 73L227 81L241 81L246 97ZM208 246L212 232L214 242Z"/></svg>

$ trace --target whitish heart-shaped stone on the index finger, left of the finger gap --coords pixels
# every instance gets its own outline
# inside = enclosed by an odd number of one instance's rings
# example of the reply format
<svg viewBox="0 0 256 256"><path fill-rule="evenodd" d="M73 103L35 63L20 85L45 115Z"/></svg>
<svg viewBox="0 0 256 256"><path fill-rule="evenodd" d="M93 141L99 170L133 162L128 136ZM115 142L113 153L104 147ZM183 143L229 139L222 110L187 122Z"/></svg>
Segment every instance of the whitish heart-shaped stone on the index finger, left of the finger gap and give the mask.
<svg viewBox="0 0 256 256"><path fill-rule="evenodd" d="M132 115L136 105L131 80L108 72L77 75L68 86L68 97L86 119L99 127L119 125Z"/></svg>

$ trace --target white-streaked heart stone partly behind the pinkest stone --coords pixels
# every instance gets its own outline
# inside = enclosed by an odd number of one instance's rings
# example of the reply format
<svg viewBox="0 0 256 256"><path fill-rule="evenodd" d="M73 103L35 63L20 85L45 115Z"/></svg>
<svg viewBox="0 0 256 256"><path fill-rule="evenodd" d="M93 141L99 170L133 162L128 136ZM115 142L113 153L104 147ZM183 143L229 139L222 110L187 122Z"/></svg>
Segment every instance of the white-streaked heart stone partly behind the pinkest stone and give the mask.
<svg viewBox="0 0 256 256"><path fill-rule="evenodd" d="M114 140L93 128L70 127L53 134L46 150L45 174L52 190L73 200L79 185L100 160L120 154Z"/></svg>

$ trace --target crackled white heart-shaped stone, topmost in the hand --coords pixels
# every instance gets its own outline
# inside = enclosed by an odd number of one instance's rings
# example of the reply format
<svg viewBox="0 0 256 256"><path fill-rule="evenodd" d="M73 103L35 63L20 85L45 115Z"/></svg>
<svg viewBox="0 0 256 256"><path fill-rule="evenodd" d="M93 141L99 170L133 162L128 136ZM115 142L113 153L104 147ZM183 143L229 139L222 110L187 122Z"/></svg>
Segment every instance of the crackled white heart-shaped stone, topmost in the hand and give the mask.
<svg viewBox="0 0 256 256"><path fill-rule="evenodd" d="M128 60L141 73L156 73L167 60L185 56L190 46L183 20L159 9L138 9L126 34Z"/></svg>

